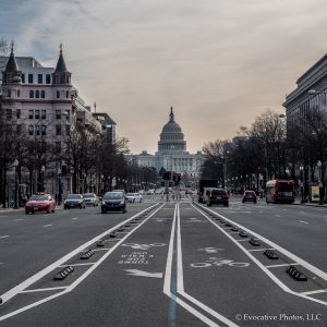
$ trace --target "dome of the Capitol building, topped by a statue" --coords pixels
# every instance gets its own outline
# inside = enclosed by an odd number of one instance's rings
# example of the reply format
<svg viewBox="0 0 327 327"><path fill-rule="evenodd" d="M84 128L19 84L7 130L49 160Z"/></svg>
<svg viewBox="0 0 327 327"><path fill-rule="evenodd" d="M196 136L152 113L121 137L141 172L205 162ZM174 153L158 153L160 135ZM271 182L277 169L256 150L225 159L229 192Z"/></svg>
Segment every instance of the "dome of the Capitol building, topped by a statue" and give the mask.
<svg viewBox="0 0 327 327"><path fill-rule="evenodd" d="M171 154L186 150L186 141L181 126L174 121L172 107L170 108L169 121L162 128L160 141L158 142L158 153Z"/></svg>

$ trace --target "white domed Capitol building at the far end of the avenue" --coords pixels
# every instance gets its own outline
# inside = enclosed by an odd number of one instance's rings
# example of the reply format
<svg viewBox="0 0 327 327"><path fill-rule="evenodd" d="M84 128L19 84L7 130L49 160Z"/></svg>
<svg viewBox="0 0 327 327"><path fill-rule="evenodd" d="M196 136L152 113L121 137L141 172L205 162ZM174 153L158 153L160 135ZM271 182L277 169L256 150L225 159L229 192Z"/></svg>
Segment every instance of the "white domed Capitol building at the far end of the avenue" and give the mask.
<svg viewBox="0 0 327 327"><path fill-rule="evenodd" d="M140 167L155 167L159 172L166 171L181 173L184 178L196 180L203 162L202 152L190 154L186 152L186 141L181 126L175 122L173 109L170 108L169 121L164 125L158 141L158 152L155 155L146 150L135 155L134 160Z"/></svg>

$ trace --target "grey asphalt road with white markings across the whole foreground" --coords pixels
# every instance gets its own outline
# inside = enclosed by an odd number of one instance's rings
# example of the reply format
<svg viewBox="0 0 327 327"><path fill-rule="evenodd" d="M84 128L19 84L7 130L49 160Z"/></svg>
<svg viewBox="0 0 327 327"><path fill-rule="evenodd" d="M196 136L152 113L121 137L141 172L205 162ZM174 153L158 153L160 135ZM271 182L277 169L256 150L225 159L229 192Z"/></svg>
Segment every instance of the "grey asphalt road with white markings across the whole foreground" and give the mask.
<svg viewBox="0 0 327 327"><path fill-rule="evenodd" d="M327 208L147 197L99 211L0 214L0 326L327 326Z"/></svg>

